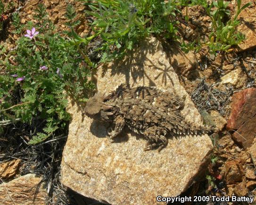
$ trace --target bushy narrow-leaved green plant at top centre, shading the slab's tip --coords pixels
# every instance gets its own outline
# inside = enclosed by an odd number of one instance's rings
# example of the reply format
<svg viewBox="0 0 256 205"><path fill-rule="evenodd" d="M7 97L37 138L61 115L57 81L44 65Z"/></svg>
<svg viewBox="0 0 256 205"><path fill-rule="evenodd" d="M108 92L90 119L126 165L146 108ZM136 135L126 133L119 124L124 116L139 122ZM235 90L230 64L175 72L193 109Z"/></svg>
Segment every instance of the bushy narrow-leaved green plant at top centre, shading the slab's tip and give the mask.
<svg viewBox="0 0 256 205"><path fill-rule="evenodd" d="M183 2L184 3L184 2ZM91 27L104 41L100 62L115 57L123 57L150 34L177 39L179 21L176 14L181 13L181 3L169 0L99 0L97 3L85 3L94 16Z"/></svg>

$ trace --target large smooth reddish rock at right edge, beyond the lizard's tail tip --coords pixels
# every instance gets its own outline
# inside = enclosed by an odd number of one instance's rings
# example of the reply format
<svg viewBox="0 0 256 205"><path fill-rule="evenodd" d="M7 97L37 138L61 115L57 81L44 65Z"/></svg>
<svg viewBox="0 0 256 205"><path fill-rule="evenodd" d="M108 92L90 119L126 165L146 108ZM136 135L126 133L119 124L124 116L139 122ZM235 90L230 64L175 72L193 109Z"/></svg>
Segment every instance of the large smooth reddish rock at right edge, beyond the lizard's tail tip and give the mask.
<svg viewBox="0 0 256 205"><path fill-rule="evenodd" d="M237 130L256 115L256 89L248 88L233 94L232 110L227 123L228 130Z"/></svg>

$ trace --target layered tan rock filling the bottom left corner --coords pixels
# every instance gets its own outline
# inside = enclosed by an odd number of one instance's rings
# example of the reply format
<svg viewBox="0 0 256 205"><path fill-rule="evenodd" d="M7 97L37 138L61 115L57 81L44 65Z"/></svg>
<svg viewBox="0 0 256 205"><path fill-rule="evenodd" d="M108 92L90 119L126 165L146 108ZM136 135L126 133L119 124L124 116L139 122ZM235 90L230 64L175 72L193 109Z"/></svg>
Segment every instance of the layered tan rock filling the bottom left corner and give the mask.
<svg viewBox="0 0 256 205"><path fill-rule="evenodd" d="M35 174L26 174L0 184L1 204L11 205L15 202L17 205L44 205L47 191L41 180Z"/></svg>

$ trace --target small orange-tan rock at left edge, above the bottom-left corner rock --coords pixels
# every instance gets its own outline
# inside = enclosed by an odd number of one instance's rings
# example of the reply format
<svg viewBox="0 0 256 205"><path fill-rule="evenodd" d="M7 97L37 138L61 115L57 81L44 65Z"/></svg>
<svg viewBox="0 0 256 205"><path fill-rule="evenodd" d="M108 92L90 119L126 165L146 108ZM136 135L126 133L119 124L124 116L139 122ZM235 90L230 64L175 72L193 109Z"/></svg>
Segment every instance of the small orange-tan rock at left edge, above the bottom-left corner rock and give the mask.
<svg viewBox="0 0 256 205"><path fill-rule="evenodd" d="M0 163L0 178L9 179L14 177L18 172L20 163L20 159Z"/></svg>

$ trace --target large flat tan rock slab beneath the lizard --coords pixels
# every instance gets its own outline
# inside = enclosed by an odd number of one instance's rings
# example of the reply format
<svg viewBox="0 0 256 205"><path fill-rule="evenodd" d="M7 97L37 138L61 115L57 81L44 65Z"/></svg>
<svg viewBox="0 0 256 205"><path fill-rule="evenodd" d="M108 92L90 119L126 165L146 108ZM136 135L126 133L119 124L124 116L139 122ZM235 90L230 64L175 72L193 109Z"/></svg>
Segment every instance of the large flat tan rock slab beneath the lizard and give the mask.
<svg viewBox="0 0 256 205"><path fill-rule="evenodd" d="M132 87L173 89L186 96L182 115L201 124L198 110L155 38L141 42L124 61L100 68L94 77L98 91L113 90L123 82ZM207 167L212 142L206 134L170 138L159 153L157 149L143 151L147 141L128 128L110 143L104 124L83 115L83 107L73 102L68 112L72 121L63 152L61 182L85 197L113 205L157 204L158 195L180 195Z"/></svg>

